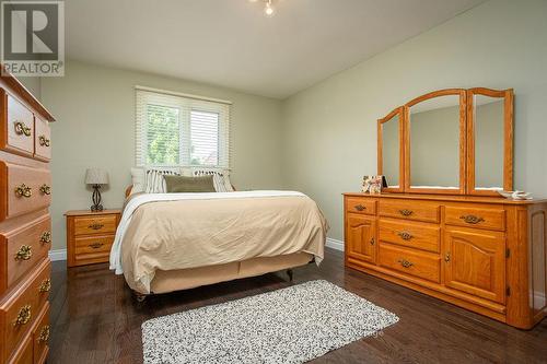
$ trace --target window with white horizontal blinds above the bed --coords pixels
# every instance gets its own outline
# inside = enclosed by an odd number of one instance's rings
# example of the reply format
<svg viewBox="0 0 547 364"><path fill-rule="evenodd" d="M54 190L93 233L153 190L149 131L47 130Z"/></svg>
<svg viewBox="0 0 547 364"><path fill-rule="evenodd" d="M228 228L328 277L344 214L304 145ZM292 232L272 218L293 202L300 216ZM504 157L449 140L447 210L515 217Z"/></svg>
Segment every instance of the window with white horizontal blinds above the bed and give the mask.
<svg viewBox="0 0 547 364"><path fill-rule="evenodd" d="M138 166L229 168L229 102L136 89Z"/></svg>

